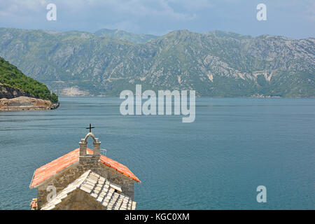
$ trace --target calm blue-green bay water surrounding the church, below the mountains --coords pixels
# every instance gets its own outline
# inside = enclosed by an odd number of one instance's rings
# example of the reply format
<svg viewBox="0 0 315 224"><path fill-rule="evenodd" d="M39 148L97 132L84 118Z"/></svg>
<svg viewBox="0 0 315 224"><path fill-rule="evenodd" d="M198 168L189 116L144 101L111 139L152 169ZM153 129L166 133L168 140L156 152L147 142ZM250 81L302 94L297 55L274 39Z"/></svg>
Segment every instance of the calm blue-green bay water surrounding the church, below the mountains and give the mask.
<svg viewBox="0 0 315 224"><path fill-rule="evenodd" d="M34 170L78 148L90 123L141 180L137 209L315 209L315 99L198 98L194 123L121 116L115 97L60 102L0 113L0 209L29 209Z"/></svg>

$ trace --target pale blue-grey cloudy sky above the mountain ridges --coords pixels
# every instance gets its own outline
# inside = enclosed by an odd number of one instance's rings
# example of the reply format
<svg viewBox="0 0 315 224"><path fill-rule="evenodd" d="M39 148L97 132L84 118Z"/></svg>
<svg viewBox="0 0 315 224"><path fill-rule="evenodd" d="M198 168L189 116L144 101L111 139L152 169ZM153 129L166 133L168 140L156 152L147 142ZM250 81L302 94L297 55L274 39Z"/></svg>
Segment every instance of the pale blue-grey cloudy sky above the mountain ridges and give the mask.
<svg viewBox="0 0 315 224"><path fill-rule="evenodd" d="M56 20L47 20L48 3ZM258 21L256 7L266 6ZM315 37L314 0L0 0L0 27L89 31L123 29L162 36L176 29Z"/></svg>

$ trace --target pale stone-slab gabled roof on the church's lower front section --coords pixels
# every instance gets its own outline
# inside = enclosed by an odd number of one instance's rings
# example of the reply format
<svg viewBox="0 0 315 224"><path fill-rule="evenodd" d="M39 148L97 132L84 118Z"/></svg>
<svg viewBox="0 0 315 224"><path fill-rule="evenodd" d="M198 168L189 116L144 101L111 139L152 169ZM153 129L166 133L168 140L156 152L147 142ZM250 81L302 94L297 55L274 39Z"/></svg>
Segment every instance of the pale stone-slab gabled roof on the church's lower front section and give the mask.
<svg viewBox="0 0 315 224"><path fill-rule="evenodd" d="M60 191L56 197L42 207L42 210L58 209L58 205L66 202L71 197L73 191L82 190L90 195L95 203L100 203L104 209L108 210L134 210L136 202L121 193L120 186L111 183L94 172L88 170L78 179L69 184L64 190Z"/></svg>

